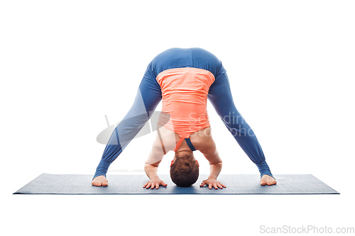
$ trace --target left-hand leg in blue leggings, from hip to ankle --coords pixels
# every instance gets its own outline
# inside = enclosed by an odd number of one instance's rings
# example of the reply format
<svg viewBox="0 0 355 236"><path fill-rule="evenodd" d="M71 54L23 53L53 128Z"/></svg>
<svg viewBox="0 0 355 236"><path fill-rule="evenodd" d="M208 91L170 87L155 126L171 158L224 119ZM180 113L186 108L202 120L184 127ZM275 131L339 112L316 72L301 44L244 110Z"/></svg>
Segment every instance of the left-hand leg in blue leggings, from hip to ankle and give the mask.
<svg viewBox="0 0 355 236"><path fill-rule="evenodd" d="M160 86L156 82L155 77L153 77L150 64L139 85L133 106L119 125L116 126L107 143L94 178L100 175L106 177L110 164L114 162L124 148L129 145L129 142L137 135L139 130L143 128L149 118L151 118L161 98Z"/></svg>

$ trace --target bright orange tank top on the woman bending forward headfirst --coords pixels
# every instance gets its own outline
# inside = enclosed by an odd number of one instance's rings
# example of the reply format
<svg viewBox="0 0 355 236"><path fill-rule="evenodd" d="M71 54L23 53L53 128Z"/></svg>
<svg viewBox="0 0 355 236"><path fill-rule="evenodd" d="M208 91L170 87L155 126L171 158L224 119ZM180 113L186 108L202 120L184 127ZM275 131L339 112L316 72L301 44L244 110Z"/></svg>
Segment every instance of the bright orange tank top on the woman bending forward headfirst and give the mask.
<svg viewBox="0 0 355 236"><path fill-rule="evenodd" d="M207 94L214 75L192 67L166 69L156 77L162 92L162 113L158 125L178 133L182 141L192 133L209 127Z"/></svg>

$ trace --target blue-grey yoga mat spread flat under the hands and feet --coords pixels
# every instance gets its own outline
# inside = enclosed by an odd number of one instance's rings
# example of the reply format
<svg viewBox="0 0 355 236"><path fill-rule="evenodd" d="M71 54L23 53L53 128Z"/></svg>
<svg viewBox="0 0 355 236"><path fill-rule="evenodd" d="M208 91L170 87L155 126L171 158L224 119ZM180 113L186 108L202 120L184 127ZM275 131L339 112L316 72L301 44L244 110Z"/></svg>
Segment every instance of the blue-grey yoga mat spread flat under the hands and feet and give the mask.
<svg viewBox="0 0 355 236"><path fill-rule="evenodd" d="M92 175L41 174L13 194L339 194L312 174L275 174L273 186L261 186L258 174L221 174L218 181L225 189L200 187L207 174L190 187L173 184L169 175L160 175L168 186L144 189L148 177L142 174L108 175L109 186L92 186Z"/></svg>

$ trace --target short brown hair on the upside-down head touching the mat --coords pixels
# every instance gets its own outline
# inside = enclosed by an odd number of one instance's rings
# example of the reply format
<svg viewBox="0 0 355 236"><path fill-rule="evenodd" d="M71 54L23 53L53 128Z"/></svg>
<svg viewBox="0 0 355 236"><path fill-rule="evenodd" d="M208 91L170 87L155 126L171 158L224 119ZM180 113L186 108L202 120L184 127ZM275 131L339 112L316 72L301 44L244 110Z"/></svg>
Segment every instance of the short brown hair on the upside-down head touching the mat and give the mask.
<svg viewBox="0 0 355 236"><path fill-rule="evenodd" d="M188 187L195 184L199 177L199 166L192 155L177 157L170 167L170 177L174 184L180 187Z"/></svg>

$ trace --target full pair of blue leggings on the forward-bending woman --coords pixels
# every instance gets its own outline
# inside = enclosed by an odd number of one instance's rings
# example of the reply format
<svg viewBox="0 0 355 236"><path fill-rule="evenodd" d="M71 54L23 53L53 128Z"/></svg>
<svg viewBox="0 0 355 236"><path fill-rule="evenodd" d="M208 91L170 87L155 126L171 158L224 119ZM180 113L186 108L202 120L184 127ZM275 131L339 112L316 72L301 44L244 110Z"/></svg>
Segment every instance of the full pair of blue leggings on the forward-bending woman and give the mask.
<svg viewBox="0 0 355 236"><path fill-rule="evenodd" d="M263 176L273 176L266 163L263 150L246 120L234 105L229 79L222 62L212 53L201 48L171 48L161 52L148 64L138 87L136 99L124 119L116 126L102 154L94 178L106 177L109 165L121 154L129 142L143 128L162 99L160 85L156 77L165 69L195 67L207 69L214 74L214 82L209 87L208 99L222 119L224 125L241 148L246 152Z"/></svg>

